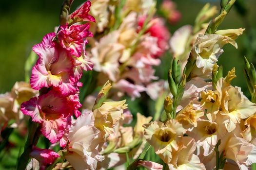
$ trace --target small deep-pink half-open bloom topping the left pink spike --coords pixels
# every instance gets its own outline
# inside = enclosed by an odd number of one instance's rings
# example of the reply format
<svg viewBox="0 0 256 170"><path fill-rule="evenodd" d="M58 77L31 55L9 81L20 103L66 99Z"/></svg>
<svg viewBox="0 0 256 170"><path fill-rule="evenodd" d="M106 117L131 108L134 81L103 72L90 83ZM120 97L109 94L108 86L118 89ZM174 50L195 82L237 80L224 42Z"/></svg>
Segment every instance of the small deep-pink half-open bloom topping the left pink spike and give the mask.
<svg viewBox="0 0 256 170"><path fill-rule="evenodd" d="M89 15L91 7L91 2L86 1L84 4L82 4L79 9L77 9L75 12L70 14L70 19L76 21L76 22L82 22L82 21L92 21L95 22L95 18L91 15Z"/></svg>

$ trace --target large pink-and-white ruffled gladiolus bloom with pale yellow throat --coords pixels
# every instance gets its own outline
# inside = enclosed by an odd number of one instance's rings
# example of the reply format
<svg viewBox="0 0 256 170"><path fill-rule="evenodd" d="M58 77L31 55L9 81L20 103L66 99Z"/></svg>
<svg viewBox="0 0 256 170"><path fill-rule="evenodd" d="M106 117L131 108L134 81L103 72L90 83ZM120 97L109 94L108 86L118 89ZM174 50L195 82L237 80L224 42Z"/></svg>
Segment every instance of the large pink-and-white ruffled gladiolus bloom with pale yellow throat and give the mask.
<svg viewBox="0 0 256 170"><path fill-rule="evenodd" d="M39 90L42 87L54 86L63 95L74 94L77 90L71 79L73 60L70 54L57 43L52 42L55 33L46 34L43 41L33 47L39 55L36 65L32 69L31 87Z"/></svg>

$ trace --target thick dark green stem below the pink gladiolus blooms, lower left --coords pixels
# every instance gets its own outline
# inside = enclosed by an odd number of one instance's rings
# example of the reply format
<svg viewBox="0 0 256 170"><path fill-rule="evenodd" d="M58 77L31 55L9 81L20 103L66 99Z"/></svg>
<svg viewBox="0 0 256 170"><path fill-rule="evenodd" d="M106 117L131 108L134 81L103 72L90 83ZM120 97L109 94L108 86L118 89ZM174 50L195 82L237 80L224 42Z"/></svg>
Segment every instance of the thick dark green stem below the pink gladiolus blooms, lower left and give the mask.
<svg viewBox="0 0 256 170"><path fill-rule="evenodd" d="M40 136L40 127L37 122L33 122L32 118L28 123L28 138L24 146L24 152L20 155L17 170L25 170L30 159L29 154L32 152L33 145L36 145Z"/></svg>

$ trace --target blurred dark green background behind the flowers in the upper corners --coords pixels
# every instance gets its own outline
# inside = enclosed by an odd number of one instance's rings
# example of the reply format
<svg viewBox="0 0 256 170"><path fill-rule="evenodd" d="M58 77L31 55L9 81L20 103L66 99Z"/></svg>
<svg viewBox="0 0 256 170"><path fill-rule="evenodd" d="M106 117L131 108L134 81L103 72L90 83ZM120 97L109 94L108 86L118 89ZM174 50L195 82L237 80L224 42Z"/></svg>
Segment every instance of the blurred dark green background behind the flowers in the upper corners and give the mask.
<svg viewBox="0 0 256 170"><path fill-rule="evenodd" d="M53 32L59 24L59 11L63 0L17 0L0 1L0 93L9 91L16 81L24 80L24 62L34 44L39 43L43 35ZM160 2L161 0L158 0ZM206 2L217 5L219 0L173 0L182 18L177 25L170 26L173 33L180 26L193 25L197 13ZM238 78L234 85L246 90L243 77L243 55L255 60L256 0L241 0L225 18L219 29L245 27L245 34L237 39L238 50L231 45L224 47L219 64L224 67L224 74L236 67ZM71 11L84 0L75 0ZM243 11L241 7L245 7ZM242 17L240 14L244 14Z"/></svg>

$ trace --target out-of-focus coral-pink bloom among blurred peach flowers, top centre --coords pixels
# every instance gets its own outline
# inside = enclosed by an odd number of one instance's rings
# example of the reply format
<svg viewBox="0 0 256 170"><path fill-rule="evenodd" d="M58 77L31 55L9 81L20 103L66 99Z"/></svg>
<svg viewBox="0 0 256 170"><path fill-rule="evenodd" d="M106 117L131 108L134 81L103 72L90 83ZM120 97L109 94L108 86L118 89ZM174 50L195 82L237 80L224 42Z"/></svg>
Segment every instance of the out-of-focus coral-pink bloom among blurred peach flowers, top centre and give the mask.
<svg viewBox="0 0 256 170"><path fill-rule="evenodd" d="M146 16L140 17L138 20L138 31L141 30ZM146 31L150 33L151 36L158 38L158 48L159 51L154 57L159 57L163 52L168 49L168 41L170 39L170 33L168 29L164 26L163 20L160 18L154 18L150 21L152 23L151 27Z"/></svg>

